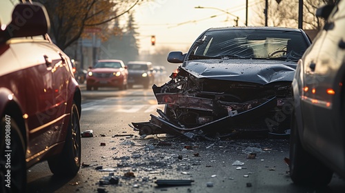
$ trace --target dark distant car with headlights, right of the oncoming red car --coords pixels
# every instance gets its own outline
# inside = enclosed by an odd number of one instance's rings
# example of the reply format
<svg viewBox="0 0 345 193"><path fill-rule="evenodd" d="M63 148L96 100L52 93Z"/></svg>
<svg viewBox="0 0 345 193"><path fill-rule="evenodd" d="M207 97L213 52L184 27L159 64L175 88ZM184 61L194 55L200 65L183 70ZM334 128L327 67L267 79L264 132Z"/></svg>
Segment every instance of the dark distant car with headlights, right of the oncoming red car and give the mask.
<svg viewBox="0 0 345 193"><path fill-rule="evenodd" d="M128 87L133 85L142 85L144 88L150 88L153 85L153 66L149 61L130 61L128 66Z"/></svg>

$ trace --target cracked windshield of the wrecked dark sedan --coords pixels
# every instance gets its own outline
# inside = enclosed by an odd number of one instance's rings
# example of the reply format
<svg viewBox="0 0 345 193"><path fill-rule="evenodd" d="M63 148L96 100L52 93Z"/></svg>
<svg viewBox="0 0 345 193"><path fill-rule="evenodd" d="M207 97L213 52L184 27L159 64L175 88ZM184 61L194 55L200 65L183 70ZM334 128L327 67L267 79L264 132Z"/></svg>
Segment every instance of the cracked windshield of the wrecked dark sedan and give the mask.
<svg viewBox="0 0 345 193"><path fill-rule="evenodd" d="M308 48L302 33L284 30L210 30L195 41L188 59L298 61Z"/></svg>

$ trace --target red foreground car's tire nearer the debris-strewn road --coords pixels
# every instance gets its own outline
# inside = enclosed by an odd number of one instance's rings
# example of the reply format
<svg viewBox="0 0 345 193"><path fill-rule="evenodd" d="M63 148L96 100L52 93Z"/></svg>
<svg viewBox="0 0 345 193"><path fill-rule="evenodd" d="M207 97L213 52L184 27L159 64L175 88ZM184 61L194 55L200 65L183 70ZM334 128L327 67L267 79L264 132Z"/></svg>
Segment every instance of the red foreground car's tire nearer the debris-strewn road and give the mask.
<svg viewBox="0 0 345 193"><path fill-rule="evenodd" d="M65 145L62 152L48 160L50 171L57 176L75 176L80 168L81 135L79 112L73 102L68 123Z"/></svg>

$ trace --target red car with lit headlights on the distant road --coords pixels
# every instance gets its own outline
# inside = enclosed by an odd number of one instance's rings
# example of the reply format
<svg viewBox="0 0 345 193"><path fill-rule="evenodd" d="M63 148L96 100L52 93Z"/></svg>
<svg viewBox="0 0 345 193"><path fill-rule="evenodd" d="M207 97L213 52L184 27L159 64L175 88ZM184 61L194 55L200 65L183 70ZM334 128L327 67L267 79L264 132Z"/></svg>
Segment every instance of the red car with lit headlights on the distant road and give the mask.
<svg viewBox="0 0 345 193"><path fill-rule="evenodd" d="M98 90L99 87L115 87L126 90L128 70L124 62L118 59L99 60L86 75L86 90Z"/></svg>

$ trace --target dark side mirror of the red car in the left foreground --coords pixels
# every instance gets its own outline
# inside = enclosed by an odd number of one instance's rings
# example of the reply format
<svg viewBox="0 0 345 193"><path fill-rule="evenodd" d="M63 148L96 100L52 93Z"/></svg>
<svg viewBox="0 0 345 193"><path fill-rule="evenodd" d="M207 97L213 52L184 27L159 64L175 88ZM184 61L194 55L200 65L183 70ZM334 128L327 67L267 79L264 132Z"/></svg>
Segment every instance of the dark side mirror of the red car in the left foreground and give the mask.
<svg viewBox="0 0 345 193"><path fill-rule="evenodd" d="M40 3L20 3L12 12L12 21L3 31L7 41L12 37L32 37L43 35L50 29L46 8Z"/></svg>

